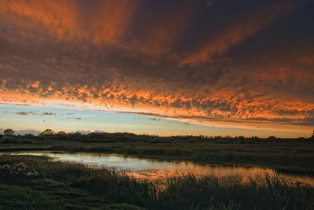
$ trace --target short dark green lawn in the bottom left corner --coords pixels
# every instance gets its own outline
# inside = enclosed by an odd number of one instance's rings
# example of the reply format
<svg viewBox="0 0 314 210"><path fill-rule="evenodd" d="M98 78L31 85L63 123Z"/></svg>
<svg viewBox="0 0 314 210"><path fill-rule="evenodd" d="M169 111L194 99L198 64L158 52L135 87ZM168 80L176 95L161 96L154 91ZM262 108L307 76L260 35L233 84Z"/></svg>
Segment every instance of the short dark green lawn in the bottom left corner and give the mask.
<svg viewBox="0 0 314 210"><path fill-rule="evenodd" d="M143 208L112 204L90 192L49 179L1 180L0 209L124 209Z"/></svg>

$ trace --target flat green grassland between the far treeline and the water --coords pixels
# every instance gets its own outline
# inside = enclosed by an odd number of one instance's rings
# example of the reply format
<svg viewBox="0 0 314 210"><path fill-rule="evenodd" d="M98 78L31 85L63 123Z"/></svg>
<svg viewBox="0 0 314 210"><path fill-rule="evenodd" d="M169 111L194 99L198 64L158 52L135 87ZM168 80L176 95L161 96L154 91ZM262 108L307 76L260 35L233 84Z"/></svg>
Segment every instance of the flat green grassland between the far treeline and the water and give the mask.
<svg viewBox="0 0 314 210"><path fill-rule="evenodd" d="M35 139L36 140L36 139ZM119 141L116 143L88 142L93 139L61 141L61 139L32 140L32 144L1 144L0 152L13 151L65 151L117 153L140 158L187 160L203 163L257 164L276 168L314 170L314 143L312 142L260 142L219 143L213 141ZM52 141L53 140L53 141ZM100 140L97 140L100 141Z"/></svg>

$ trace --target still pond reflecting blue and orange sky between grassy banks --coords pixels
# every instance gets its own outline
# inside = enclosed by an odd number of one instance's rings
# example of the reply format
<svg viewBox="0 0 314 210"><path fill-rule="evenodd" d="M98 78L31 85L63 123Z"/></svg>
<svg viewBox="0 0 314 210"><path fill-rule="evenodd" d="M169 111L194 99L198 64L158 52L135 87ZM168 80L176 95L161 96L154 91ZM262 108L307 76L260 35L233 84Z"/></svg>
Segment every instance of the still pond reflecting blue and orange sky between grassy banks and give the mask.
<svg viewBox="0 0 314 210"><path fill-rule="evenodd" d="M211 175L246 181L248 177L263 176L265 172L270 175L279 174L280 176L292 181L300 180L306 183L314 183L312 175L300 175L279 172L272 168L262 168L258 166L242 167L222 164L198 164L186 161L162 161L152 159L140 159L135 157L123 157L117 154L96 154L96 153L57 153L57 152L19 152L19 153L0 153L0 154L28 154L46 155L57 160L70 162L83 162L89 167L115 167L127 170L130 175L141 179L149 179L154 182L164 182L165 178L180 176L187 173L199 175Z"/></svg>

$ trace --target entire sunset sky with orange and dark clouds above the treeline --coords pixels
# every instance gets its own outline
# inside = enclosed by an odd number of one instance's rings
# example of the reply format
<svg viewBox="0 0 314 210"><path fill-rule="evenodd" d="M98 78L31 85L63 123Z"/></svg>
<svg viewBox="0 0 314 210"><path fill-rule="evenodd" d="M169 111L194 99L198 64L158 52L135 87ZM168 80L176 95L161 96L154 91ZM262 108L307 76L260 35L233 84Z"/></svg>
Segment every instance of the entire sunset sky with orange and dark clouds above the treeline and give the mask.
<svg viewBox="0 0 314 210"><path fill-rule="evenodd" d="M0 128L309 137L313 0L2 0Z"/></svg>

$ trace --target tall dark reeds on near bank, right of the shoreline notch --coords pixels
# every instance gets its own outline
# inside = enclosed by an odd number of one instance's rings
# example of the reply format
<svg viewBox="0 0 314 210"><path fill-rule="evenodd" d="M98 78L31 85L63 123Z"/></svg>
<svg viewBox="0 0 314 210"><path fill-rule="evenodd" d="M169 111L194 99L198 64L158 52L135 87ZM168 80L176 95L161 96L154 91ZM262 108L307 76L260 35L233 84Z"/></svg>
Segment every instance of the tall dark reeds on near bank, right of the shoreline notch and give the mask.
<svg viewBox="0 0 314 210"><path fill-rule="evenodd" d="M235 209L313 209L314 188L293 183L278 175L239 179L218 179L187 174L167 180L168 188L159 194L165 209L206 209L224 204Z"/></svg>

